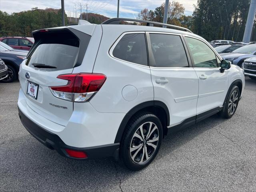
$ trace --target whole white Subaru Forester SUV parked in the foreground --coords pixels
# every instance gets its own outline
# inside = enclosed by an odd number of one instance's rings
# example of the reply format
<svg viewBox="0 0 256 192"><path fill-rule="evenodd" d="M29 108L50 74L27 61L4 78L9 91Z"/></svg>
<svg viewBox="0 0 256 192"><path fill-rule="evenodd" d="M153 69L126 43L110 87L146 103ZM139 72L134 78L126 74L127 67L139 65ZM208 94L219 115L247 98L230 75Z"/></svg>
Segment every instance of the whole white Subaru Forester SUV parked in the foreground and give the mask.
<svg viewBox="0 0 256 192"><path fill-rule="evenodd" d="M68 158L114 156L140 170L164 136L215 113L230 118L242 97L244 70L186 28L112 18L33 36L20 65L19 116Z"/></svg>

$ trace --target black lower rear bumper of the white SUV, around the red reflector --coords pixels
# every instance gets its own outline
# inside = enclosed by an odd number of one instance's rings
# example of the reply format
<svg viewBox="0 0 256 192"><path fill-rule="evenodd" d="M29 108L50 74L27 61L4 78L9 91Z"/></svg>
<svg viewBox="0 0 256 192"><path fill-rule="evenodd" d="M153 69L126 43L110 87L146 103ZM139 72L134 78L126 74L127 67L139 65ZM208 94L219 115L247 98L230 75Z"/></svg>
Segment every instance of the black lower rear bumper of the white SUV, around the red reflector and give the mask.
<svg viewBox="0 0 256 192"><path fill-rule="evenodd" d="M38 126L32 120L30 120L22 111L18 108L19 117L23 124L23 126L28 130L28 132L34 136L38 141L44 144L46 147L50 149L55 149L60 155L72 159L76 159L70 157L65 149L83 151L87 154L87 158L101 158L113 156L115 158L118 157L119 143L107 144L102 146L95 147L86 147L86 148L78 148L66 145L61 138L53 134L44 128Z"/></svg>

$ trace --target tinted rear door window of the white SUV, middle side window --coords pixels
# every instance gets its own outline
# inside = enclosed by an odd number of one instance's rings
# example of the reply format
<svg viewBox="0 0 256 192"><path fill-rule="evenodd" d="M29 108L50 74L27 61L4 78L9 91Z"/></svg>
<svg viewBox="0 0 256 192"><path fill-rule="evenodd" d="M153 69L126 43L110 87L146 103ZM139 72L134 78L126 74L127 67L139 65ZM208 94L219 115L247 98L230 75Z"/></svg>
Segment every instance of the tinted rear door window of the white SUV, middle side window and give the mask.
<svg viewBox="0 0 256 192"><path fill-rule="evenodd" d="M188 67L182 40L178 35L150 34L151 48L156 67Z"/></svg>

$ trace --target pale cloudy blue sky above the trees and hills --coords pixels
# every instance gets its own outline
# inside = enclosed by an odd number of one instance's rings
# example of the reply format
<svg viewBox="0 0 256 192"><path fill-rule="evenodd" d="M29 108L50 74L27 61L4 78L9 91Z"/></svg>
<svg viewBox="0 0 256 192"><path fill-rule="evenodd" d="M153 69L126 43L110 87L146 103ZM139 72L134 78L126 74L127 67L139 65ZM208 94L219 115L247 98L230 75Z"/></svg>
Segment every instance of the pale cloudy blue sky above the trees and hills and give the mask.
<svg viewBox="0 0 256 192"><path fill-rule="evenodd" d="M185 7L185 15L192 15L194 10L193 4L196 4L197 0L176 1ZM144 8L155 10L163 2L165 0L120 0L119 17L137 18L140 10ZM82 4L82 12L86 12L86 4L88 4L88 12L102 14L110 18L116 17L117 14L117 0L64 0L65 12L68 16L75 16L75 4L77 16L80 13L80 4ZM34 7L39 9L59 9L61 8L61 0L0 0L0 10L9 14L31 10Z"/></svg>

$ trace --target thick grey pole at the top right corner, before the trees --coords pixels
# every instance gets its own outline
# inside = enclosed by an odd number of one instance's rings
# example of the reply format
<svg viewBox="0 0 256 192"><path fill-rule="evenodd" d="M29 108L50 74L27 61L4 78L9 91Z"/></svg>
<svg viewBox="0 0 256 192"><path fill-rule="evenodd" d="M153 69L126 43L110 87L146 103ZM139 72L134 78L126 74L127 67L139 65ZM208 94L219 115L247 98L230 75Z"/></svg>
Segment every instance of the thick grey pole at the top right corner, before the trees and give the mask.
<svg viewBox="0 0 256 192"><path fill-rule="evenodd" d="M252 26L254 22L255 13L256 13L256 0L251 0L247 21L246 21L246 26L244 30L243 42L251 40Z"/></svg>

